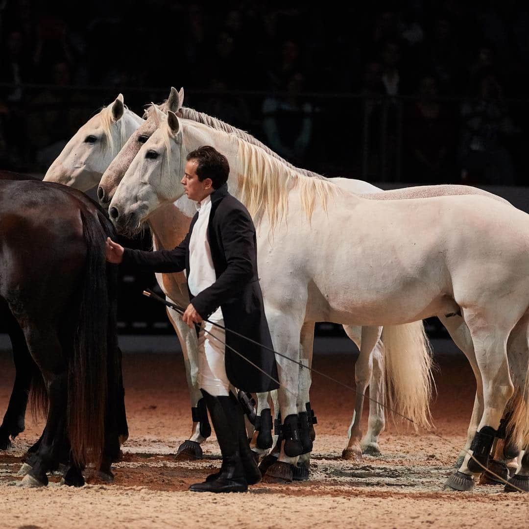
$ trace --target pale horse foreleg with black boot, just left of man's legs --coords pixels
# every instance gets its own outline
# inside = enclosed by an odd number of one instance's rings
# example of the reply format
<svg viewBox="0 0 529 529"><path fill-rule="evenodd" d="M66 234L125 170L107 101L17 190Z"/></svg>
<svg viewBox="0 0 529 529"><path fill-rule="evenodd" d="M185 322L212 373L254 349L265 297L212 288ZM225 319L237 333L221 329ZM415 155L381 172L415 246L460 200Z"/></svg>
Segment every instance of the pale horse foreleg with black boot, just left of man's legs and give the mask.
<svg viewBox="0 0 529 529"><path fill-rule="evenodd" d="M191 435L178 447L176 460L196 461L203 458L200 444L211 435L206 403L198 387L198 339L196 331L190 329L176 311L168 307L167 315L178 335L184 354L187 387L191 401L191 418L193 419Z"/></svg>

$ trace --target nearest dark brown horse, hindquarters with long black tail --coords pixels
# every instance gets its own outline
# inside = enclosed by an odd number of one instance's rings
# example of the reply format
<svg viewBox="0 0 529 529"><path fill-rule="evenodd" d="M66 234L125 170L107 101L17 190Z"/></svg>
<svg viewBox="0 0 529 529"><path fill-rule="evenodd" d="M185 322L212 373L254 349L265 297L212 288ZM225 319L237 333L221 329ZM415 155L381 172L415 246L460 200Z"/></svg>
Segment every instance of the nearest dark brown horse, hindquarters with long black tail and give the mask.
<svg viewBox="0 0 529 529"><path fill-rule="evenodd" d="M117 457L123 395L116 277L104 256L112 234L82 193L0 180L0 299L23 331L49 399L47 424L23 482L46 484L46 473L69 459L65 480L79 485L87 462L102 462L110 473Z"/></svg>

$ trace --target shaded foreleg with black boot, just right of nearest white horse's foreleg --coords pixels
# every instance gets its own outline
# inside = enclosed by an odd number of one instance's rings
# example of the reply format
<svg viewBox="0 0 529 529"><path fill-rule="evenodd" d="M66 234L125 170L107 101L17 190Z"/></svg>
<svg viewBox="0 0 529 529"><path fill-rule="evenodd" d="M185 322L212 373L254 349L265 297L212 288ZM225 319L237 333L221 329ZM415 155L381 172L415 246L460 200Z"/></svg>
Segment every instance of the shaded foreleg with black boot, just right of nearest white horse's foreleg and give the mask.
<svg viewBox="0 0 529 529"><path fill-rule="evenodd" d="M298 386L298 417L300 427L300 440L303 446L303 452L300 454L297 466L294 468L293 479L296 481L305 481L309 476L309 467L311 464L311 452L313 442L316 439L314 424L316 417L311 407L309 391L312 384L311 366L312 353L314 348L314 322L305 322L300 334L299 361L304 367L299 367L299 386Z"/></svg>

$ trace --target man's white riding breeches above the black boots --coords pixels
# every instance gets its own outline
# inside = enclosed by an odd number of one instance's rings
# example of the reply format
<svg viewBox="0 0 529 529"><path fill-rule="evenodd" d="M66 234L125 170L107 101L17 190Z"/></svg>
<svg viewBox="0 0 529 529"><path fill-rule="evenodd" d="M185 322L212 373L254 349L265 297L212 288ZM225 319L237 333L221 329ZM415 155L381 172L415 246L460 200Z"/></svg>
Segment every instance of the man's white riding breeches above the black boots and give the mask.
<svg viewBox="0 0 529 529"><path fill-rule="evenodd" d="M222 318L215 323L224 326ZM207 331L207 332L205 332ZM209 334L211 333L211 334ZM218 340L217 340L218 339ZM211 323L203 323L198 333L198 385L215 397L228 396L230 381L224 362L225 332Z"/></svg>

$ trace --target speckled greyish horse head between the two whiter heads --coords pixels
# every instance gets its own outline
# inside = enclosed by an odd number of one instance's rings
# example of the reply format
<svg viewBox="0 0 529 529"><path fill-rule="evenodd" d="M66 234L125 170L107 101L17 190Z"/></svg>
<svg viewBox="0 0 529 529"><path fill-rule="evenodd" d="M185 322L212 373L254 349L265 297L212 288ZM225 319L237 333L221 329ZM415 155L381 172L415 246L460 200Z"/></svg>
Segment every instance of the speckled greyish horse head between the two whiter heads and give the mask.
<svg viewBox="0 0 529 529"><path fill-rule="evenodd" d="M132 160L138 154L142 145L158 129L160 123L166 120L168 111L178 113L184 102L184 88L180 92L176 88L171 88L169 98L160 106L154 103L145 111L145 120L141 126L130 136L123 149L117 154L110 166L106 169L97 188L97 197L102 206L108 207L117 186L123 179L125 171L129 168Z"/></svg>

